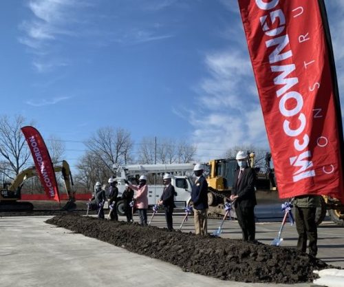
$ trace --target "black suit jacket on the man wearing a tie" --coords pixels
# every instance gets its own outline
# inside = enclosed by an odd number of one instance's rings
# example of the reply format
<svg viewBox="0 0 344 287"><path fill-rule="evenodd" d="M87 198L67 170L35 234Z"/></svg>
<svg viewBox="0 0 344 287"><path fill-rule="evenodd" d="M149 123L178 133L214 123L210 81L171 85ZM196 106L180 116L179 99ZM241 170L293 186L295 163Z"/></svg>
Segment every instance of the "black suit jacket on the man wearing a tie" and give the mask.
<svg viewBox="0 0 344 287"><path fill-rule="evenodd" d="M240 204L243 207L252 207L257 204L255 195L255 171L250 167L246 167L241 174L239 181L239 171L235 171L234 184L231 194L239 195L239 198L235 201L235 206Z"/></svg>

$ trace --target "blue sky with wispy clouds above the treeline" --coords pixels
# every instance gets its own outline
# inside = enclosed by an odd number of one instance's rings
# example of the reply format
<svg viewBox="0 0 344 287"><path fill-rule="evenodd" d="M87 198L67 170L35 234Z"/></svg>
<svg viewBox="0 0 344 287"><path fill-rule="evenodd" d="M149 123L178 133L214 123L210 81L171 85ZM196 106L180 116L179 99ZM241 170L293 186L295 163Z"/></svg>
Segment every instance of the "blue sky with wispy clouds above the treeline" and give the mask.
<svg viewBox="0 0 344 287"><path fill-rule="evenodd" d="M344 1L325 1L340 94ZM197 158L268 147L235 0L1 1L0 114L65 140L66 159L105 126L185 139ZM344 98L341 96L342 114Z"/></svg>

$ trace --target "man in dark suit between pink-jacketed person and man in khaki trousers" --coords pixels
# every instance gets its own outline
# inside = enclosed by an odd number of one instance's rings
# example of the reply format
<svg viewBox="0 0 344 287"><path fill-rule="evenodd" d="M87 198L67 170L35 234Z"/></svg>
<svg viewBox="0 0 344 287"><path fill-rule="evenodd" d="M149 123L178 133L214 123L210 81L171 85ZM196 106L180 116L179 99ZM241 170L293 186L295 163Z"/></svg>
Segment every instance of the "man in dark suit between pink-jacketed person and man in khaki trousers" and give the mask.
<svg viewBox="0 0 344 287"><path fill-rule="evenodd" d="M164 191L160 197L158 204L164 206L166 225L169 231L173 231L173 209L175 208L174 197L175 189L171 184L172 176L169 173L165 173L162 178L164 184Z"/></svg>

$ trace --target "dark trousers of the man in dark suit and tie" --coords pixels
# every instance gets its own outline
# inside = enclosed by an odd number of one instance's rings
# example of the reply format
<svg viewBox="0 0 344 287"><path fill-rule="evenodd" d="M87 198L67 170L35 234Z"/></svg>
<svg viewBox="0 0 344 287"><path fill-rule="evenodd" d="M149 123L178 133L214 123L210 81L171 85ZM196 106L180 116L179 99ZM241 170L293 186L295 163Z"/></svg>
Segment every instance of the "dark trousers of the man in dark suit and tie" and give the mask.
<svg viewBox="0 0 344 287"><path fill-rule="evenodd" d="M235 207L235 213L237 213L237 221L241 227L242 240L254 241L256 233L255 206L244 207L240 206L240 203L238 202Z"/></svg>

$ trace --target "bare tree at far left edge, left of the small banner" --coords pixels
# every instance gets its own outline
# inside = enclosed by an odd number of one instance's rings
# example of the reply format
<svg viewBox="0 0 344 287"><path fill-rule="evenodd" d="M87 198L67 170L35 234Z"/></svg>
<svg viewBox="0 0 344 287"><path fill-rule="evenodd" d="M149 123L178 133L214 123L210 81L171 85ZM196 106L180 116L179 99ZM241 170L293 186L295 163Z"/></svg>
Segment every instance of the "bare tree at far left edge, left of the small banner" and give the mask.
<svg viewBox="0 0 344 287"><path fill-rule="evenodd" d="M25 125L23 116L15 116L10 120L8 116L0 118L0 156L2 158L0 173L13 179L27 166L31 156L21 127Z"/></svg>

